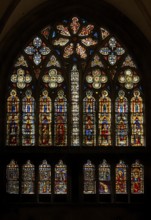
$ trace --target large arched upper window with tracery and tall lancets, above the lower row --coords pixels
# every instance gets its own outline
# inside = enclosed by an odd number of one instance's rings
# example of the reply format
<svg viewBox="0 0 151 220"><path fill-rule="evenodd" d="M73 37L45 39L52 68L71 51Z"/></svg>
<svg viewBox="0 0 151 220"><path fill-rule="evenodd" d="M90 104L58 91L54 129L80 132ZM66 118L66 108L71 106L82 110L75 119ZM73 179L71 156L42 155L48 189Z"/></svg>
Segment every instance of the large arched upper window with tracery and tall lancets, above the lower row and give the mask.
<svg viewBox="0 0 151 220"><path fill-rule="evenodd" d="M145 146L137 65L113 33L83 18L31 38L8 88L7 146Z"/></svg>

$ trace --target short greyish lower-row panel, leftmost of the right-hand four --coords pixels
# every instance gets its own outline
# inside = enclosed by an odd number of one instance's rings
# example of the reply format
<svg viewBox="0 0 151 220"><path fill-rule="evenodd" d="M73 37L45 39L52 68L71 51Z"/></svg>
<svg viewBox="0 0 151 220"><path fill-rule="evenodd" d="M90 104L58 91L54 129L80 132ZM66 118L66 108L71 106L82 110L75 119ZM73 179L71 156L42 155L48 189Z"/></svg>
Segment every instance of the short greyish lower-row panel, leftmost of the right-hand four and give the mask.
<svg viewBox="0 0 151 220"><path fill-rule="evenodd" d="M90 160L87 161L83 166L84 175L84 194L95 194L96 193L96 179L95 179L95 166Z"/></svg>

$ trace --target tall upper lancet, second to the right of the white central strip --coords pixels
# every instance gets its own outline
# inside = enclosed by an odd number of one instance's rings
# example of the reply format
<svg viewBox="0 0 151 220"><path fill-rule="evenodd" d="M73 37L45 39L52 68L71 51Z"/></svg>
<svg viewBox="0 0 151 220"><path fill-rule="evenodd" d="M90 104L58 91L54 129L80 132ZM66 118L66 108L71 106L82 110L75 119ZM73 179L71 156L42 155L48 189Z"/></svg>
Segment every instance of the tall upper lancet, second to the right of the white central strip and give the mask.
<svg viewBox="0 0 151 220"><path fill-rule="evenodd" d="M99 146L111 145L111 99L108 97L106 90L102 91L99 99Z"/></svg>

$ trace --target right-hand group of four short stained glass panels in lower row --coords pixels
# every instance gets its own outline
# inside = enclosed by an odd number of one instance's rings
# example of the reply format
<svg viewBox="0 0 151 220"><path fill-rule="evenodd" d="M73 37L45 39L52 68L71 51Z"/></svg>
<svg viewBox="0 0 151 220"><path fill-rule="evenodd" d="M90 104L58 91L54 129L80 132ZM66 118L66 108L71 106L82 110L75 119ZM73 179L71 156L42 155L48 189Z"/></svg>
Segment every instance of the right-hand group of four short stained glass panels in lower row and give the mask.
<svg viewBox="0 0 151 220"><path fill-rule="evenodd" d="M115 193L116 194L128 194L128 166L124 161L120 160L115 166ZM96 175L96 169L98 175ZM97 177L96 177L97 176ZM98 189L96 190L96 181L98 178ZM111 165L103 160L102 163L96 168L90 160L83 165L83 194L111 194ZM143 194L144 193L144 167L136 160L131 165L131 194Z"/></svg>

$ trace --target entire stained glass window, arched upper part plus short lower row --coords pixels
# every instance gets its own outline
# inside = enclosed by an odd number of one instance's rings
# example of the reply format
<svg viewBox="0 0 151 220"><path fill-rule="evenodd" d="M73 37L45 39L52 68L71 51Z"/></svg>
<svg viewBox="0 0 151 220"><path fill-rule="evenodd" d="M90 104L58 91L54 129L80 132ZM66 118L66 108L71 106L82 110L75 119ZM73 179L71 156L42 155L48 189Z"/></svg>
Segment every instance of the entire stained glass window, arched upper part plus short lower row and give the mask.
<svg viewBox="0 0 151 220"><path fill-rule="evenodd" d="M56 152L64 146L87 152L87 147L95 146L96 152L108 147L105 151L111 154L114 146L145 146L141 74L126 46L105 27L77 16L48 25L17 55L8 84L7 146L37 146L41 152L50 147L49 153L53 147L58 147ZM99 165L88 160L83 166L83 194L112 194L114 183L116 194L126 194L127 165L120 160L113 167L113 184L111 168L106 160ZM43 160L36 171L35 184L35 166L30 161L23 165L22 194L68 193L62 160L55 167ZM131 166L132 194L144 192L143 175L144 167L136 161ZM15 161L8 164L6 177L7 192L18 194Z"/></svg>

